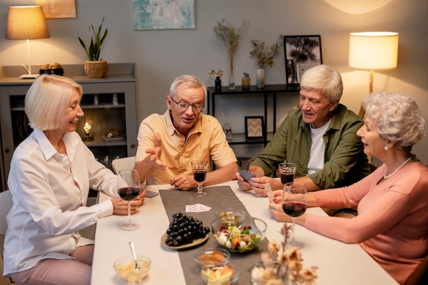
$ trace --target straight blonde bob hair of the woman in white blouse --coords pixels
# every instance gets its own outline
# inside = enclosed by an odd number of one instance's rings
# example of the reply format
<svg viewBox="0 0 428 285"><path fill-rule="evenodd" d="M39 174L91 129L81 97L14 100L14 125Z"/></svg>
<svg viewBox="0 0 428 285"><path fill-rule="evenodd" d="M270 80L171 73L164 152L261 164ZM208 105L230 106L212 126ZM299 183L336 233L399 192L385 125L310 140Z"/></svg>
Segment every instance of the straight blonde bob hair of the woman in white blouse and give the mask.
<svg viewBox="0 0 428 285"><path fill-rule="evenodd" d="M31 128L55 130L64 124L62 117L75 92L82 97L81 85L67 77L42 74L25 96L25 113Z"/></svg>

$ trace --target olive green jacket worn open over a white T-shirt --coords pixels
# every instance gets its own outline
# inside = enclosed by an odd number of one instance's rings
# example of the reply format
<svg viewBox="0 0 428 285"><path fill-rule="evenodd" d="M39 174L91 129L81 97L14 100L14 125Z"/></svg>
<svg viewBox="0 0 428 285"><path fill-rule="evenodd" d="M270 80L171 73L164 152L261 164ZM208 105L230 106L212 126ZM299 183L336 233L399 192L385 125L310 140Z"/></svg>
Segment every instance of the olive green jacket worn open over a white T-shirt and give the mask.
<svg viewBox="0 0 428 285"><path fill-rule="evenodd" d="M356 135L362 120L345 105L339 104L333 112L332 122L323 135L324 167L308 175L321 189L351 185L370 174L361 139ZM292 109L269 144L250 159L248 166L258 165L265 176L271 176L278 164L288 161L297 165L295 177L306 176L311 144L310 126L302 120L302 111Z"/></svg>

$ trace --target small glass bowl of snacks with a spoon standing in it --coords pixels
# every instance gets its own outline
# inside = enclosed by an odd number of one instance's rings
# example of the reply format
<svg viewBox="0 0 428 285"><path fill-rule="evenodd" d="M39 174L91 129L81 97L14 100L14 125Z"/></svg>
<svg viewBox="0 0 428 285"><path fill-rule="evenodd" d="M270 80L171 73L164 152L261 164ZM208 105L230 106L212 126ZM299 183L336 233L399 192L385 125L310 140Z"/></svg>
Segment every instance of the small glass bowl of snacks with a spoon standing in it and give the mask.
<svg viewBox="0 0 428 285"><path fill-rule="evenodd" d="M131 256L119 258L113 267L123 280L131 284L138 283L147 276L151 261L146 256L137 256L137 266Z"/></svg>

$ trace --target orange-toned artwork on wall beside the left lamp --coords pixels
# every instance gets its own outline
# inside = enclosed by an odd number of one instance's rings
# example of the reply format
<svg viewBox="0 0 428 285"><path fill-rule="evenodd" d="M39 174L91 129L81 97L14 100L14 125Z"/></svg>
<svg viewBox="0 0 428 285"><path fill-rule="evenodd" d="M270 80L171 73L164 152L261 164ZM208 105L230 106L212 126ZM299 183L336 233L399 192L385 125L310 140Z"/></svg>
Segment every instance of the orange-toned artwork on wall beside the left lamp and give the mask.
<svg viewBox="0 0 428 285"><path fill-rule="evenodd" d="M76 18L75 0L36 0L42 6L44 18Z"/></svg>

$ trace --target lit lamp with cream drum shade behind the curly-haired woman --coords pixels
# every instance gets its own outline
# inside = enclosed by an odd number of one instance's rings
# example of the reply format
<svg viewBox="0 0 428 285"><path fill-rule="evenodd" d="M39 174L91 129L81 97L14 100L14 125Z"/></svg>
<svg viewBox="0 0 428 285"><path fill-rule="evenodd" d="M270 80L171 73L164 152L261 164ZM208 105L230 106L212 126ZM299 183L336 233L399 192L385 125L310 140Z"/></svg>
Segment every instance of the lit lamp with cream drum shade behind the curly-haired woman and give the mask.
<svg viewBox="0 0 428 285"><path fill-rule="evenodd" d="M349 66L369 69L369 92L373 92L374 70L397 67L399 34L392 31L364 31L351 33L349 37ZM360 107L360 118L364 109Z"/></svg>

